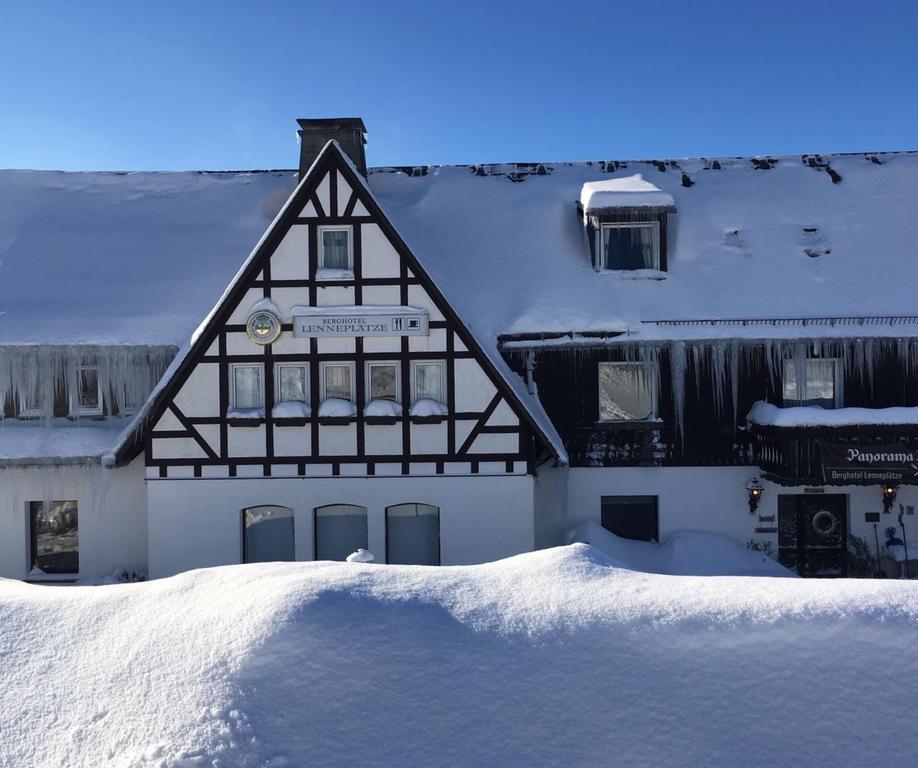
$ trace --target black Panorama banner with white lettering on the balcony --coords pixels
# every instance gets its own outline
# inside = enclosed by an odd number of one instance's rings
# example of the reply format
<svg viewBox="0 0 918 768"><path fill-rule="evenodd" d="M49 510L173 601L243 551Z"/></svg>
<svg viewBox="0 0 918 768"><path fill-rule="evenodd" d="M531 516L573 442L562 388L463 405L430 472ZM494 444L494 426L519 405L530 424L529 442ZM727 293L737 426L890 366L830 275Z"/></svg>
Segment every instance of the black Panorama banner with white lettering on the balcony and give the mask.
<svg viewBox="0 0 918 768"><path fill-rule="evenodd" d="M820 443L822 476L832 485L918 484L918 449L902 443Z"/></svg>

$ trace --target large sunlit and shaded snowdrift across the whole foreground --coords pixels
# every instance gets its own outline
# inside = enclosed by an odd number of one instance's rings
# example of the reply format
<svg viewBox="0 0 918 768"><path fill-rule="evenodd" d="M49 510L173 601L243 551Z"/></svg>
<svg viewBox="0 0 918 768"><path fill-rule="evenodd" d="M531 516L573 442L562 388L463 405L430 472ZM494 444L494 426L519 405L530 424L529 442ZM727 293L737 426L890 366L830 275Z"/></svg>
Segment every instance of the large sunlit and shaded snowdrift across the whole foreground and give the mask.
<svg viewBox="0 0 918 768"><path fill-rule="evenodd" d="M0 582L3 766L908 765L918 591L482 566Z"/></svg>

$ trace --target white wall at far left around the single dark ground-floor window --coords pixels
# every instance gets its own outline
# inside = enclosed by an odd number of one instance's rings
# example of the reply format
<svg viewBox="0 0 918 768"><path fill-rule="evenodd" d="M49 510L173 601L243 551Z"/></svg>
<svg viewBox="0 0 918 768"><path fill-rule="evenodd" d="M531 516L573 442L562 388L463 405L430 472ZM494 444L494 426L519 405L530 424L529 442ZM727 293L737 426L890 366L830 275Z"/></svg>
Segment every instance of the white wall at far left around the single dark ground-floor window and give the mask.
<svg viewBox="0 0 918 768"><path fill-rule="evenodd" d="M31 566L27 502L75 499L80 578L116 568L146 572L143 457L127 467L5 467L0 469L0 577L22 579Z"/></svg>

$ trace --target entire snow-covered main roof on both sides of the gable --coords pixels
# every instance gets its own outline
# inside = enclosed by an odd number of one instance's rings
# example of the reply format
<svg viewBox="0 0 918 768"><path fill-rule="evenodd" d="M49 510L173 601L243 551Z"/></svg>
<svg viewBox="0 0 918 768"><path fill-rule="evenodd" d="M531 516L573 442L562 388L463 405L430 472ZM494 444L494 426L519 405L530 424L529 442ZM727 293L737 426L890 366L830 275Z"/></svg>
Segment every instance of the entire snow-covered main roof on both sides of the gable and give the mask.
<svg viewBox="0 0 918 768"><path fill-rule="evenodd" d="M183 345L295 182L294 171L0 171L0 344ZM539 332L918 334L918 318L797 322L918 314L916 153L379 168L369 184L491 346ZM593 270L585 184L673 199L662 279ZM698 320L718 324L680 322Z"/></svg>

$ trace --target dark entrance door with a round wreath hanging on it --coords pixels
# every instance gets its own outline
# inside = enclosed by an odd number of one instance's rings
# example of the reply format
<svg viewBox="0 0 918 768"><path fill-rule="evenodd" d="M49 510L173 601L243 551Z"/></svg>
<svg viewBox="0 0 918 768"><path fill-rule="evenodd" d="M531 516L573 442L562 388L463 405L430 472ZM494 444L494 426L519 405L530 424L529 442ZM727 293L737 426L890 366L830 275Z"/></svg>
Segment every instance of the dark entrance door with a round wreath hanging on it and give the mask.
<svg viewBox="0 0 918 768"><path fill-rule="evenodd" d="M778 560L801 576L847 576L847 495L778 496Z"/></svg>

